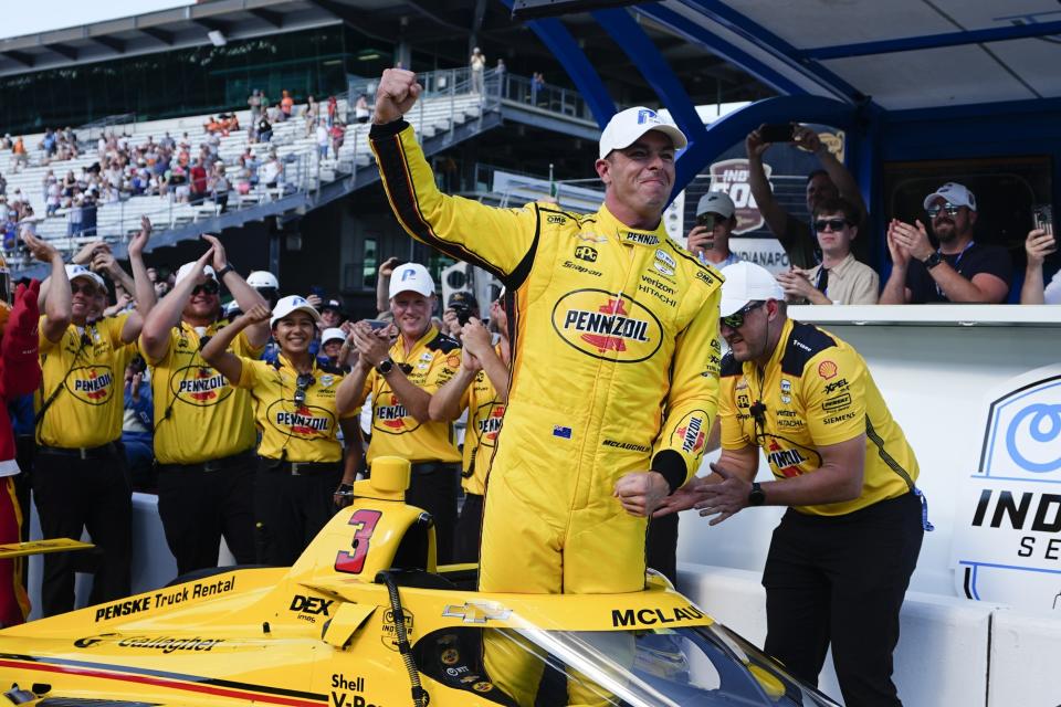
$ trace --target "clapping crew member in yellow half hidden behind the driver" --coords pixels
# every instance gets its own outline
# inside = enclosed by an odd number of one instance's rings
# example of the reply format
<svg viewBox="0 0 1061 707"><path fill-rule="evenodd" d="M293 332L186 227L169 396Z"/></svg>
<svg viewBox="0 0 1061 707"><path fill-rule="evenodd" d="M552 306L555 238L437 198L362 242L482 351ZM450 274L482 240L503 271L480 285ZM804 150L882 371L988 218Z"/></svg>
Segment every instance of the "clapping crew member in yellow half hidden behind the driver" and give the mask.
<svg viewBox="0 0 1061 707"><path fill-rule="evenodd" d="M505 403L508 402L511 349L501 297L490 305L491 325L500 334L495 346L492 346L490 331L479 320L479 313L475 314L461 328L463 348L460 370L431 395L429 405L431 419L435 421L456 420L468 411L461 472L464 505L456 523L454 562L474 562L479 559L486 471L501 431Z"/></svg>

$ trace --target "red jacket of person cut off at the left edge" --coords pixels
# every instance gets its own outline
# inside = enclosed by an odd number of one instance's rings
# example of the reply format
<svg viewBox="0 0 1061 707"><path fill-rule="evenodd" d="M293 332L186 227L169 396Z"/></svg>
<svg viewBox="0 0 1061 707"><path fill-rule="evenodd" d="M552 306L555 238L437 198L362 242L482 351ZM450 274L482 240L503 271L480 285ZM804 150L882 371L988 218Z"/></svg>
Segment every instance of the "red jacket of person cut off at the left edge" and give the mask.
<svg viewBox="0 0 1061 707"><path fill-rule="evenodd" d="M41 283L19 285L14 306L3 327L0 340L0 398L9 400L32 393L41 384L41 360L38 355L38 321L41 318L36 296ZM14 433L7 404L0 405L0 476L19 471L14 461Z"/></svg>

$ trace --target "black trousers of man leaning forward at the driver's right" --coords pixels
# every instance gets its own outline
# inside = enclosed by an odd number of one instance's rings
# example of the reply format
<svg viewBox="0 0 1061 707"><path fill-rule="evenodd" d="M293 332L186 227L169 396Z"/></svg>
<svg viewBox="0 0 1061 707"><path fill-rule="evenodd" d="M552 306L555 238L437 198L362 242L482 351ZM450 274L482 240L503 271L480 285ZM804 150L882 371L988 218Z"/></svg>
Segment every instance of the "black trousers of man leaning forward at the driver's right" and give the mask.
<svg viewBox="0 0 1061 707"><path fill-rule="evenodd" d="M763 572L766 652L817 685L832 643L845 704L902 705L892 652L923 535L913 494L832 518L789 509Z"/></svg>

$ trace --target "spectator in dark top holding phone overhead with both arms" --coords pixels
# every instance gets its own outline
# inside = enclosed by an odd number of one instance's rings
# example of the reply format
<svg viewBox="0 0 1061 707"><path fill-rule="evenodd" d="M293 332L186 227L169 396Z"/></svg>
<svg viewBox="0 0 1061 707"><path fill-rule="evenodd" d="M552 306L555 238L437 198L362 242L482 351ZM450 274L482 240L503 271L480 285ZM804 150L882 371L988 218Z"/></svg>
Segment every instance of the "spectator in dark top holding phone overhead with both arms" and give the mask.
<svg viewBox="0 0 1061 707"><path fill-rule="evenodd" d="M763 168L763 155L770 148L771 143L763 139L759 126L752 130L745 139L748 154L748 186L752 196L759 207L759 212L788 254L789 263L796 267L809 270L818 264L817 240L810 223L800 221L788 213L774 197L770 182ZM843 197L859 210L859 228L865 233L865 202L859 186L851 172L822 144L818 134L805 125L792 126L792 143L805 150L812 152L821 162L817 169L807 176L807 211L813 213L815 207L826 199Z"/></svg>

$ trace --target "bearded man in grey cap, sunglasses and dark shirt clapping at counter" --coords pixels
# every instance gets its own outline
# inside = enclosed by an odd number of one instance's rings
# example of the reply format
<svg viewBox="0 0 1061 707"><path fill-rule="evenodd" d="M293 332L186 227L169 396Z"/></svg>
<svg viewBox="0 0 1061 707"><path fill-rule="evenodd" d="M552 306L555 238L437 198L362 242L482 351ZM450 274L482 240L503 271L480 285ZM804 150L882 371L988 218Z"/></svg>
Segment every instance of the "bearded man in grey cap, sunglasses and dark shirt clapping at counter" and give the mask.
<svg viewBox="0 0 1061 707"><path fill-rule="evenodd" d="M1009 252L973 240L976 197L964 184L948 181L925 197L934 249L924 224L892 219L887 250L892 273L881 293L881 304L941 302L999 304L1012 282Z"/></svg>

